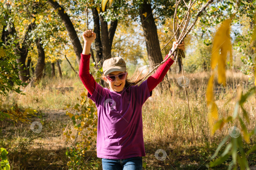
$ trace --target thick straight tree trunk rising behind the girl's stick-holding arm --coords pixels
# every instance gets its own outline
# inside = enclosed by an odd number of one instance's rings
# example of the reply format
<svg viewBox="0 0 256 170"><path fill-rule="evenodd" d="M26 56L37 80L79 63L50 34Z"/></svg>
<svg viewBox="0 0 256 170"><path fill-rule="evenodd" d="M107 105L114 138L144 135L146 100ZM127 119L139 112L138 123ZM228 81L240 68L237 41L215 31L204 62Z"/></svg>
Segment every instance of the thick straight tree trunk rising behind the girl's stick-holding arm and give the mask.
<svg viewBox="0 0 256 170"><path fill-rule="evenodd" d="M153 12L151 9L151 4L147 3L146 0L144 0L144 3L140 6L139 9L139 15L143 27L147 52L148 52L148 58L149 58L149 69L153 69L152 65L161 63L163 61L163 57L161 54L160 44L158 40L157 35L157 28L155 25L155 19L153 17ZM144 16L145 15L145 16ZM168 82L168 78L165 76L160 82L160 84L157 86L160 91L164 88L169 88L170 84Z"/></svg>

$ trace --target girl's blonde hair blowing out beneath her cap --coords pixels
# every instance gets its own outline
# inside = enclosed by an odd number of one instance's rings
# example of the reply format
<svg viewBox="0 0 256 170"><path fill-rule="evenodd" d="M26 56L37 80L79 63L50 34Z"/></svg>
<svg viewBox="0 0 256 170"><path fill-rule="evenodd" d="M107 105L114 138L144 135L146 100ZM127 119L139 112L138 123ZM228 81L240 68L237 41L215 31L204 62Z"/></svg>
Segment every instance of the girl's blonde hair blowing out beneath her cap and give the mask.
<svg viewBox="0 0 256 170"><path fill-rule="evenodd" d="M146 69L146 68L139 70L139 69L138 69L138 66L137 66L136 69L135 69L135 71L134 71L134 73L133 73L133 75L131 76L131 78L128 79L128 78L126 77L126 79L125 79L125 88L128 88L129 86L135 86L135 85L137 85L140 81L142 81L143 78L145 78L145 77L147 76L147 74L149 73L149 68L148 68L147 71L146 71L144 74L142 74L142 72L143 72L145 69ZM125 69L125 72L127 72L127 70L128 70L128 68ZM104 77L104 74L101 75L101 79L103 79L103 77Z"/></svg>

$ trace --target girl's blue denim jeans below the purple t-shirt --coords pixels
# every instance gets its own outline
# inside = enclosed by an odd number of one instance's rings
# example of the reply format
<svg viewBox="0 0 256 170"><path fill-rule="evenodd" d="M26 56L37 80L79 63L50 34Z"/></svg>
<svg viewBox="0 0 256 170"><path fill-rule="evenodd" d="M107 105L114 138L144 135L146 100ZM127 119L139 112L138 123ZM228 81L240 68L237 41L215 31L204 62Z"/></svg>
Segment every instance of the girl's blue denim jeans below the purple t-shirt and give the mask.
<svg viewBox="0 0 256 170"><path fill-rule="evenodd" d="M136 156L126 159L102 158L103 170L142 170L142 157Z"/></svg>

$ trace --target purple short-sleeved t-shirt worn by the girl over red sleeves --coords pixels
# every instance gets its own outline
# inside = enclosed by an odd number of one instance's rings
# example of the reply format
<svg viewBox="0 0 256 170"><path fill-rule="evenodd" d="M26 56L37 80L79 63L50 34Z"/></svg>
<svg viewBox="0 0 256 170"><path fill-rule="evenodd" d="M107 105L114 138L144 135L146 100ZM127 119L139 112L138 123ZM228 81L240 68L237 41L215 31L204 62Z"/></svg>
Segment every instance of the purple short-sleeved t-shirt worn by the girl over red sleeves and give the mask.
<svg viewBox="0 0 256 170"><path fill-rule="evenodd" d="M152 95L147 80L140 86L130 86L113 92L96 83L92 99L98 110L97 157L126 159L146 156L142 105Z"/></svg>

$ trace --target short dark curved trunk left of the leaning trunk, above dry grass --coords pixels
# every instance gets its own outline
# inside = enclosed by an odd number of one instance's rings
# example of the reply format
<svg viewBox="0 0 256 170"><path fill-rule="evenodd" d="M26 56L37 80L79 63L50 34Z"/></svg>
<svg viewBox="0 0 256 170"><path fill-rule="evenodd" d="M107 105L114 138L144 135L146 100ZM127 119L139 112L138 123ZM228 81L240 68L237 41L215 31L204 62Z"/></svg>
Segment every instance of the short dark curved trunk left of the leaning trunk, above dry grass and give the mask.
<svg viewBox="0 0 256 170"><path fill-rule="evenodd" d="M40 44L40 38L37 39L36 46L38 51L38 60L37 60L37 65L35 70L35 76L36 76L36 80L40 80L45 68L45 51L42 45Z"/></svg>

